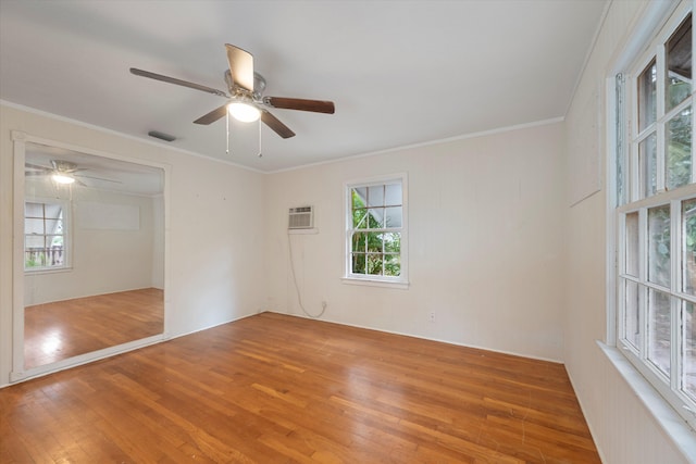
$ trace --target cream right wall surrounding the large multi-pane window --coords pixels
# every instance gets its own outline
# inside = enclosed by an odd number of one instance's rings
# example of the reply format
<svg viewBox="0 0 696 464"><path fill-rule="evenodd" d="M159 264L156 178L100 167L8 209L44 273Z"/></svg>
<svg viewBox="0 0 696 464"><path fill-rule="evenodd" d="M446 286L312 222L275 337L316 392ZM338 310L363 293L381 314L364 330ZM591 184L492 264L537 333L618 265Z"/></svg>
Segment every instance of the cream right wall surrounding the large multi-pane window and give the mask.
<svg viewBox="0 0 696 464"><path fill-rule="evenodd" d="M571 156L568 165L577 165L577 156L592 156L582 148L596 147L602 184L607 162L605 83L613 76L610 66L622 53L647 3L611 3L566 121L567 140L580 140L567 147ZM593 106L595 95L599 96L598 106ZM595 108L595 111L587 111L588 108ZM577 181L576 175L569 170L567 185ZM607 191L602 188L572 208L570 202L569 192L563 240L568 269L563 358L595 442L608 464L685 463L686 459L676 451L596 343L596 340L606 340L607 336Z"/></svg>

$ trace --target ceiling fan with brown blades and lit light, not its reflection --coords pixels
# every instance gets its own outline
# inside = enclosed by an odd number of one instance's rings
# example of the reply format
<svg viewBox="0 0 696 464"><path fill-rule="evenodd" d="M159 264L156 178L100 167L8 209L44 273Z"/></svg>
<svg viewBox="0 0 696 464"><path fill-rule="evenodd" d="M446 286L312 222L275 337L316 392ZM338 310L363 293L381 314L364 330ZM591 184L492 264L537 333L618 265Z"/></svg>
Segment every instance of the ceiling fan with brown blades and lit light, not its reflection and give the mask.
<svg viewBox="0 0 696 464"><path fill-rule="evenodd" d="M228 92L135 67L130 68L130 73L136 76L149 77L216 95L228 100L222 106L194 121L196 124L208 125L214 123L229 112L233 117L243 122L252 122L260 117L277 135L283 138L289 138L295 136L295 133L271 114L268 110L269 108L334 114L335 108L332 101L264 96L265 79L253 71L253 57L251 53L229 43L225 43L225 48L227 49L227 62L229 63L229 70L225 71L225 83L227 84Z"/></svg>

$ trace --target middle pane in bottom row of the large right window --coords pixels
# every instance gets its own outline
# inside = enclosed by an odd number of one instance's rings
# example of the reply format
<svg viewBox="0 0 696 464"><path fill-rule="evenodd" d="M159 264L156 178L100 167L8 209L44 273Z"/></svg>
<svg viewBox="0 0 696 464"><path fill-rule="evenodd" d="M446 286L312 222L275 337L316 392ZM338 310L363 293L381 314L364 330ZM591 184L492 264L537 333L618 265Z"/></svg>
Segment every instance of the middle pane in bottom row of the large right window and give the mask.
<svg viewBox="0 0 696 464"><path fill-rule="evenodd" d="M648 291L648 360L669 376L671 339L670 297Z"/></svg>

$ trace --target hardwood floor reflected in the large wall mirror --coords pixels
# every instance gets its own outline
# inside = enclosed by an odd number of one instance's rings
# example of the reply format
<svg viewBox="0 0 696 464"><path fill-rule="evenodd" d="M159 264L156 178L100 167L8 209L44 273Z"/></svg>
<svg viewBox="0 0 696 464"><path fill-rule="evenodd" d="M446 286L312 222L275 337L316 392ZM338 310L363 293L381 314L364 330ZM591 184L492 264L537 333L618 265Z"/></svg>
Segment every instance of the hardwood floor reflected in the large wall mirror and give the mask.
<svg viewBox="0 0 696 464"><path fill-rule="evenodd" d="M162 290L146 288L24 309L24 366L54 363L162 334Z"/></svg>

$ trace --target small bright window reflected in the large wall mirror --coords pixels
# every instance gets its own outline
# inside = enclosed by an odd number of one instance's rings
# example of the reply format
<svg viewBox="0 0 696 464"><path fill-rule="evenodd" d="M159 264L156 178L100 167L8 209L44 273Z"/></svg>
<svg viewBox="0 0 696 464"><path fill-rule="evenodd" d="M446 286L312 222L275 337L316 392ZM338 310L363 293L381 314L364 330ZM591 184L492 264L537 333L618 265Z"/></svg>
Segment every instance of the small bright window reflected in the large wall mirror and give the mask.
<svg viewBox="0 0 696 464"><path fill-rule="evenodd" d="M24 269L67 266L67 212L62 202L24 203Z"/></svg>

